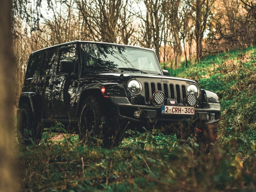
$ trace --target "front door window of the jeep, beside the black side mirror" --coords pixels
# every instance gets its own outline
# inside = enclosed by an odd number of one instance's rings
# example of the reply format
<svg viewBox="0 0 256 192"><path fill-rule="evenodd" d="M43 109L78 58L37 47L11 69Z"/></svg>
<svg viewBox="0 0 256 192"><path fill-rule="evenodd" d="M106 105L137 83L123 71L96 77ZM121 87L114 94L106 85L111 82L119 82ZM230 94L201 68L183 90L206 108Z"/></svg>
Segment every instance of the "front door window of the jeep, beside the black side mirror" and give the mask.
<svg viewBox="0 0 256 192"><path fill-rule="evenodd" d="M60 59L57 66L57 73L60 71L60 62L62 61L76 61L76 47L69 46L60 49Z"/></svg>

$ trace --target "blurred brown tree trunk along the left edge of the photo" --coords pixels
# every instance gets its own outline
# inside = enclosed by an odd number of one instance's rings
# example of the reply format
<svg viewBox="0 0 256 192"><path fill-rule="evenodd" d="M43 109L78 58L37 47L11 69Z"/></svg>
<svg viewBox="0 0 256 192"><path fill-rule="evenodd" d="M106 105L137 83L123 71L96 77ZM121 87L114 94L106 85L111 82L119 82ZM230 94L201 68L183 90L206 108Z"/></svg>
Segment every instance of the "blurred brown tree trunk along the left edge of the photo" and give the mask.
<svg viewBox="0 0 256 192"><path fill-rule="evenodd" d="M14 55L11 35L12 1L0 6L0 191L17 191L14 171Z"/></svg>

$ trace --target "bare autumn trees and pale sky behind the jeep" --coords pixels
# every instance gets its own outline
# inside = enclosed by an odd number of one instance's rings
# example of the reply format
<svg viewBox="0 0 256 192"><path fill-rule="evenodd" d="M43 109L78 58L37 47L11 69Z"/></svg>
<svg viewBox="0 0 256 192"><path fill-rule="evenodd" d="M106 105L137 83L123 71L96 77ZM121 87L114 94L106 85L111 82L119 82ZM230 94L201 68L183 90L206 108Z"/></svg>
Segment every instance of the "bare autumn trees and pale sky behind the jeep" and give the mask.
<svg viewBox="0 0 256 192"><path fill-rule="evenodd" d="M16 103L29 54L72 40L152 48L163 68L256 44L255 0L15 0Z"/></svg>

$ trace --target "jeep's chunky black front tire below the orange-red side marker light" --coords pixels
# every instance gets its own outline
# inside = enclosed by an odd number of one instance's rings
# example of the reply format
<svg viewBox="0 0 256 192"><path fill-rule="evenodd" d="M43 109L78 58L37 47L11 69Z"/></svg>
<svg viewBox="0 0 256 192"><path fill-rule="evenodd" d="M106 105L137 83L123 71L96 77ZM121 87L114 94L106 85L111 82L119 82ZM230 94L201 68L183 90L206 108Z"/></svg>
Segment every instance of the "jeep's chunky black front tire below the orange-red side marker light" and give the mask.
<svg viewBox="0 0 256 192"><path fill-rule="evenodd" d="M103 104L94 97L89 96L84 100L78 128L79 139L86 143L99 143L105 148L118 146L124 137L125 128L119 124L117 118L107 115Z"/></svg>

